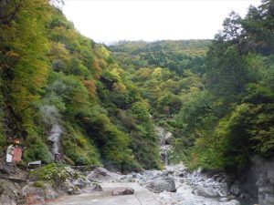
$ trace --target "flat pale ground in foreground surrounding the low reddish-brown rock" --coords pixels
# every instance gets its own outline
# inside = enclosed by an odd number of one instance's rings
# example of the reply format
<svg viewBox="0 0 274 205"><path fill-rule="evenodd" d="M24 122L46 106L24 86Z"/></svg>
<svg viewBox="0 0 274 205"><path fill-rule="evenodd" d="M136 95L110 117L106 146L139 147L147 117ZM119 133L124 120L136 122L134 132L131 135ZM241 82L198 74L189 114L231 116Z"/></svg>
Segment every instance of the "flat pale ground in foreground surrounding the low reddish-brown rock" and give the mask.
<svg viewBox="0 0 274 205"><path fill-rule="evenodd" d="M64 196L47 205L161 205L153 193L138 183L102 183L103 191L91 194ZM111 190L120 187L132 188L133 195L111 196Z"/></svg>

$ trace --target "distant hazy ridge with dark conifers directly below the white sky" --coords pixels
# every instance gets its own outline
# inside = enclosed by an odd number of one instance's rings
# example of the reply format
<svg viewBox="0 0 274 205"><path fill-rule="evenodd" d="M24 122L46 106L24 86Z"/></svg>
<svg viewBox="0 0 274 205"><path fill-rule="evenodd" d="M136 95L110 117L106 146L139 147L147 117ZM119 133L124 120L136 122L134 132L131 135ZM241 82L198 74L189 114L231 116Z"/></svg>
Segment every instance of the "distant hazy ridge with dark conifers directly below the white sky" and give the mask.
<svg viewBox="0 0 274 205"><path fill-rule="evenodd" d="M205 53L210 43L211 40L121 41L109 48L124 69L168 67L182 75L184 69L205 72Z"/></svg>

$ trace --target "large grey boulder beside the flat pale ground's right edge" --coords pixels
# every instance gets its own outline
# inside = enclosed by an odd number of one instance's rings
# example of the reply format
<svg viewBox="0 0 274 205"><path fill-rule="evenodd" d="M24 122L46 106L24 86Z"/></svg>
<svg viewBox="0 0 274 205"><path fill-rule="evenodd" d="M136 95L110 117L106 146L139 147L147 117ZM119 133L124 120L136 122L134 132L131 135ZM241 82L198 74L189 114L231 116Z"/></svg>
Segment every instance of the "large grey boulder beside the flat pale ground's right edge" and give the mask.
<svg viewBox="0 0 274 205"><path fill-rule="evenodd" d="M147 188L154 192L163 192L164 190L170 192L176 192L174 178L166 176L152 179L148 184Z"/></svg>

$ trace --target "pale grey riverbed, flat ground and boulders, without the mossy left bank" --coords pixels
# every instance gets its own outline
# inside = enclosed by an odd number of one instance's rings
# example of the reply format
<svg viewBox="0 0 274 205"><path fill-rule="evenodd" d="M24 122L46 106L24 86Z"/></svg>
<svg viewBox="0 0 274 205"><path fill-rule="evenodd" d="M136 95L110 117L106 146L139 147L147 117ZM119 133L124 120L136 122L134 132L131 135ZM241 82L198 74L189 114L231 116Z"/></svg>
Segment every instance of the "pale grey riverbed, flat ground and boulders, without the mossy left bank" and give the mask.
<svg viewBox="0 0 274 205"><path fill-rule="evenodd" d="M163 170L145 170L142 173L121 175L97 168L84 172L86 180L98 184L97 191L83 188L79 196L62 197L49 204L176 204L176 205L239 205L227 188L226 176L216 174L209 178L200 171L189 172L183 165ZM91 186L91 188L93 185ZM121 187L135 190L132 196L111 196ZM149 201L148 201L149 200ZM69 203L68 203L69 202ZM246 204L254 204L246 200Z"/></svg>

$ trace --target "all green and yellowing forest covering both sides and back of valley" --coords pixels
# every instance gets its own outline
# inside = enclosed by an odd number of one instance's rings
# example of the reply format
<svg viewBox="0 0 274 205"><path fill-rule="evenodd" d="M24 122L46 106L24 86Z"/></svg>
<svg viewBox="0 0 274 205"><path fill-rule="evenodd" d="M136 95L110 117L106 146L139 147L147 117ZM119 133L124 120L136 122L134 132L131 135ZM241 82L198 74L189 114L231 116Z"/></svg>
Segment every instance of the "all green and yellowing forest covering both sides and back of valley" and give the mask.
<svg viewBox="0 0 274 205"><path fill-rule="evenodd" d="M57 1L59 3L60 1ZM173 162L242 169L274 155L274 1L232 12L214 40L81 36L47 0L1 1L0 156L60 153L74 165L161 169L154 125L174 133Z"/></svg>

